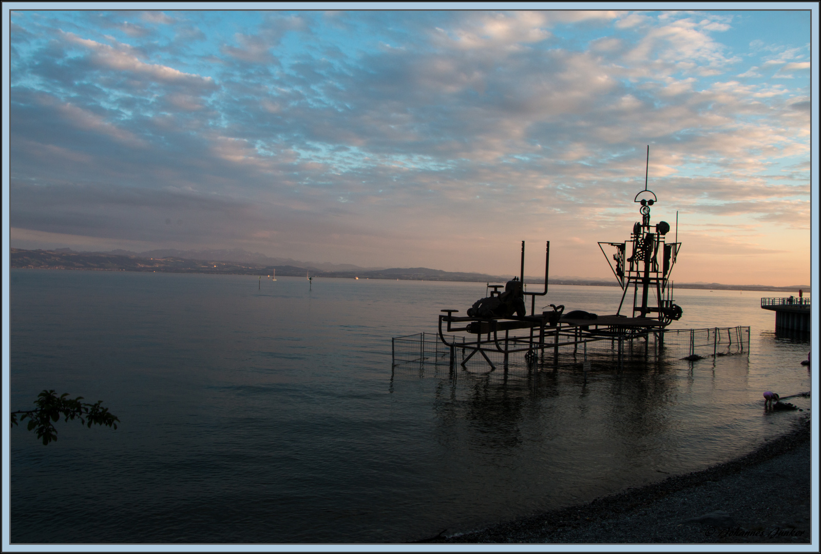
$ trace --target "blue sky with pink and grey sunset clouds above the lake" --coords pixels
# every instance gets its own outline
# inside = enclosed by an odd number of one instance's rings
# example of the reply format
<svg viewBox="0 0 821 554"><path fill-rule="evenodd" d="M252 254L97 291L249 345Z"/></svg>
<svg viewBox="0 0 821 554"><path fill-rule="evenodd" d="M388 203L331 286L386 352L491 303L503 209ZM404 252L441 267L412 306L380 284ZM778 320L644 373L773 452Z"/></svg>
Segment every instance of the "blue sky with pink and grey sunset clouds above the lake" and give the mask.
<svg viewBox="0 0 821 554"><path fill-rule="evenodd" d="M649 145L675 280L807 284L810 21L11 11L11 246L612 277Z"/></svg>

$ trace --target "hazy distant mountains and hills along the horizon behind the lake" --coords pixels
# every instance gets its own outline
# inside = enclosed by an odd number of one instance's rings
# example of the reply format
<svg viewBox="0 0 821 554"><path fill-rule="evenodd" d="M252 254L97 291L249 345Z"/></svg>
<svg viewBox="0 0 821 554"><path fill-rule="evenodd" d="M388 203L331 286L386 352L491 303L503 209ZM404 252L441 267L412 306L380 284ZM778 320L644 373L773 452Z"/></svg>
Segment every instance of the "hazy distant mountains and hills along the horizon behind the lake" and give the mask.
<svg viewBox="0 0 821 554"><path fill-rule="evenodd" d="M361 268L350 263L310 263L295 259L268 258L245 250L149 250L134 253L76 252L57 250L11 249L12 268L80 269L91 271L135 271L173 273L222 273L233 275L272 275L277 277L337 277L353 279L399 279L403 281L506 282L510 275L447 272L430 268ZM541 285L544 277L525 276L526 283ZM615 279L550 277L552 285L618 286ZM810 292L809 285L722 285L721 283L676 283L676 288L717 291Z"/></svg>

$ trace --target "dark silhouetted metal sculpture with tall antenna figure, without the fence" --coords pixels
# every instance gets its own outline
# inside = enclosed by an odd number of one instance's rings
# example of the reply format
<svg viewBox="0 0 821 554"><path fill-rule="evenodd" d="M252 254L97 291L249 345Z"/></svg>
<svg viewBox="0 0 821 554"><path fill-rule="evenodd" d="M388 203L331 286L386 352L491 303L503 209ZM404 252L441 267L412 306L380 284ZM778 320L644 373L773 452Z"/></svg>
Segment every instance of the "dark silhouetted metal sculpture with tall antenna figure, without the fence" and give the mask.
<svg viewBox="0 0 821 554"><path fill-rule="evenodd" d="M599 248L608 259L608 264L616 276L623 292L617 313L614 315L591 314L585 310L574 309L563 314L564 306L549 304L553 311L535 313L535 297L548 294L548 265L550 259L550 242L545 249L544 291L525 291L525 241L521 244L521 275L508 281L506 285L490 285L493 288L487 298L477 300L467 310L467 317L460 317L456 309L443 309L439 315L438 337L445 346L451 349L452 365L456 364L456 348L470 354L461 360L461 366L479 353L495 369L487 353L497 352L504 355L503 364L507 368L508 356L524 352L529 363L541 357L544 364L545 350L553 350L553 366L559 364L559 348L572 346L573 355L582 346L585 349L589 342L610 341L617 343L617 363L621 367L623 348L626 342L644 338L645 346L650 335L657 337L654 344L663 344L664 327L673 320L681 318L681 308L673 303L670 274L676 264L681 243L677 240L667 243L670 225L667 222L650 222L650 207L658 202L652 190L647 188L649 173L648 162L644 170L644 190L635 195L636 204L641 204L641 222L635 222L630 240L624 242L599 242ZM616 249L612 260L604 252L604 245ZM499 289L504 288L504 292ZM621 314L627 291L633 289L633 310L629 315ZM639 292L641 291L641 292ZM651 301L651 293L655 300ZM530 315L525 312L525 297L530 295ZM516 315L514 315L514 313ZM652 317L651 317L652 316ZM464 332L466 336L445 335L445 333ZM521 333L521 334L520 334ZM471 335L473 337L471 337ZM424 335L423 335L424 337ZM460 340L461 339L461 340ZM423 338L424 342L424 338ZM423 346L424 348L424 346ZM537 352L540 356L537 356ZM421 356L424 359L424 355Z"/></svg>

